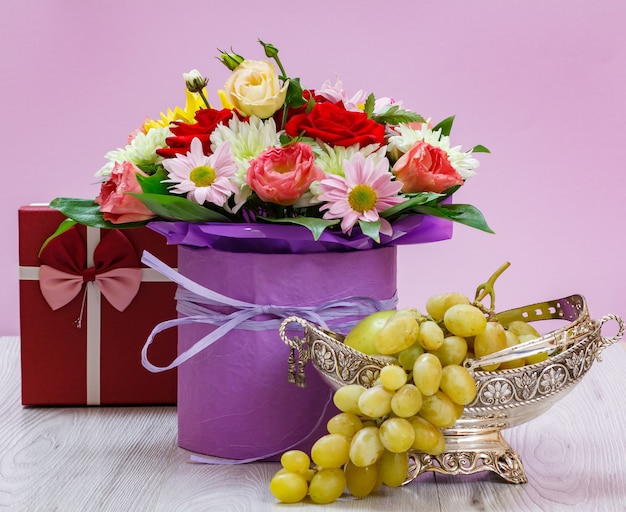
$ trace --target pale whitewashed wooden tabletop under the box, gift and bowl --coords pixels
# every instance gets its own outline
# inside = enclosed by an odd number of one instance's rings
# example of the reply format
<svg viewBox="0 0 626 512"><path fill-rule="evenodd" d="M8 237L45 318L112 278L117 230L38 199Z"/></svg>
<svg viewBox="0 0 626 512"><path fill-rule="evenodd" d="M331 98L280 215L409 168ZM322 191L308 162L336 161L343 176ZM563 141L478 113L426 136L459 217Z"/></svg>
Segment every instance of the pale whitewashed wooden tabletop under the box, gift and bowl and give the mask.
<svg viewBox="0 0 626 512"><path fill-rule="evenodd" d="M11 511L626 510L626 344L547 413L504 432L527 484L421 475L330 505L279 504L278 463L211 466L176 445L175 407L24 408L19 339L0 338L0 509Z"/></svg>

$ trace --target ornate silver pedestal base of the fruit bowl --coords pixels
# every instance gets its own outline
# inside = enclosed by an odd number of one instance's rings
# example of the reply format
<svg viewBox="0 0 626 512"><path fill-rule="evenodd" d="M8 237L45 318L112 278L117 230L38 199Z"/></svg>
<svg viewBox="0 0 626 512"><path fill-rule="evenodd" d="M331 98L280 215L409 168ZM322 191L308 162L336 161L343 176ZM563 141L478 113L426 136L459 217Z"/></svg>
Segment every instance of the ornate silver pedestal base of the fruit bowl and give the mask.
<svg viewBox="0 0 626 512"><path fill-rule="evenodd" d="M528 481L522 459L502 437L500 431L479 434L445 434L446 451L440 455L421 452L409 454L409 474L405 483L422 473L471 475L492 471L512 484Z"/></svg>

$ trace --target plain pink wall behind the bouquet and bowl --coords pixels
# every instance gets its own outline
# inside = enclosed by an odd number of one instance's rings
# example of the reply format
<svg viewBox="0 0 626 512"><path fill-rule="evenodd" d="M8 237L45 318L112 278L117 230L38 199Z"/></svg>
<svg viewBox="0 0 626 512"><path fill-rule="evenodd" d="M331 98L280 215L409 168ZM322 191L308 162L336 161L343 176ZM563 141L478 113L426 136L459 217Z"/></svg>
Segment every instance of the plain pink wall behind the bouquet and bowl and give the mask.
<svg viewBox="0 0 626 512"><path fill-rule="evenodd" d="M435 120L456 114L453 141L492 150L456 201L497 235L459 226L402 248L401 305L472 294L508 260L499 309L577 292L594 318L626 313L625 22L615 0L6 2L0 335L18 333L18 207L95 196L104 154L182 103L183 72L214 91L227 76L216 48L261 58L257 37L310 87L339 75Z"/></svg>

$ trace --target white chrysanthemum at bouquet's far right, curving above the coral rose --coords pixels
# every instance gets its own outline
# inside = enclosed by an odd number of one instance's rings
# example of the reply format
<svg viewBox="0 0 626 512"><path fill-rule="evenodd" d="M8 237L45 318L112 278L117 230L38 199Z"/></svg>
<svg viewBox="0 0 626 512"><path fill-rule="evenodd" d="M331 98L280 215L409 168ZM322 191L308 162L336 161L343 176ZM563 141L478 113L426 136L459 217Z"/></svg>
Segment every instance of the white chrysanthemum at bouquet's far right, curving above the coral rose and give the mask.
<svg viewBox="0 0 626 512"><path fill-rule="evenodd" d="M423 140L431 146L441 148L448 154L450 164L466 180L476 175L476 169L480 162L474 158L471 151L462 151L461 146L450 147L450 137L441 135L441 130L433 131L428 128L428 123L423 123L420 128L415 129L400 124L396 127L398 135L389 137L388 150L397 149L400 153L406 153L413 145Z"/></svg>

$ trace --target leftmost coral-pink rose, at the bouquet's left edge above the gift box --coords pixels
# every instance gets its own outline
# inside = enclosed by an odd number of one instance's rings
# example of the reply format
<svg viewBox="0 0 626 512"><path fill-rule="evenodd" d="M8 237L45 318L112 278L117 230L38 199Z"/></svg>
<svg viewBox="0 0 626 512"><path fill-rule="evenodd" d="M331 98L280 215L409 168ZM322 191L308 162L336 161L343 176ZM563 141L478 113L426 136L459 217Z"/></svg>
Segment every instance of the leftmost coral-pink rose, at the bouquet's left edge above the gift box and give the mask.
<svg viewBox="0 0 626 512"><path fill-rule="evenodd" d="M102 184L96 203L104 220L114 224L140 222L155 217L139 199L126 192L141 192L136 174L146 176L130 162L116 162L111 176Z"/></svg>

